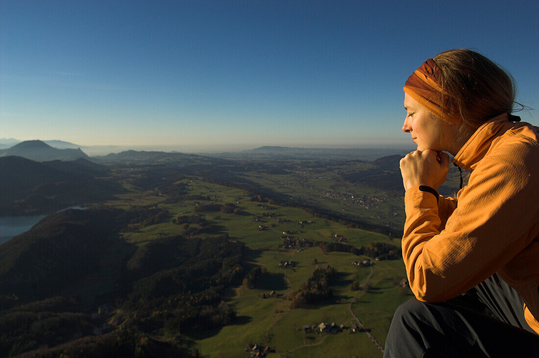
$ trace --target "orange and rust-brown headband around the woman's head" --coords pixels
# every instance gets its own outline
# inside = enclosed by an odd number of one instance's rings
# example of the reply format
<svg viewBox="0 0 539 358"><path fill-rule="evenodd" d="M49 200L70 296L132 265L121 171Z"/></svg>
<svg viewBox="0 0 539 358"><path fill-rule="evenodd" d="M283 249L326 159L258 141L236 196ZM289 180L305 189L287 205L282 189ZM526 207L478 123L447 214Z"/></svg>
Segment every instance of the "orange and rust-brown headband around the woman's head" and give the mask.
<svg viewBox="0 0 539 358"><path fill-rule="evenodd" d="M423 62L404 83L404 92L418 101L433 115L449 123L460 123L459 116L451 114L442 101L442 76L433 59Z"/></svg>

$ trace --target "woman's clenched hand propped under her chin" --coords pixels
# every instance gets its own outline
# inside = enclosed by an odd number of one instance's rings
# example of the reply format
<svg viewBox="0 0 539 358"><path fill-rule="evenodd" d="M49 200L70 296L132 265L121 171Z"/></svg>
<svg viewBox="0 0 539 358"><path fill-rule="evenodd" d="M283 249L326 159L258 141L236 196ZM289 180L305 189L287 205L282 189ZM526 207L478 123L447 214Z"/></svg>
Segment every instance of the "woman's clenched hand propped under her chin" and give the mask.
<svg viewBox="0 0 539 358"><path fill-rule="evenodd" d="M404 189L418 185L438 190L444 184L449 169L449 156L434 150L413 151L400 159Z"/></svg>

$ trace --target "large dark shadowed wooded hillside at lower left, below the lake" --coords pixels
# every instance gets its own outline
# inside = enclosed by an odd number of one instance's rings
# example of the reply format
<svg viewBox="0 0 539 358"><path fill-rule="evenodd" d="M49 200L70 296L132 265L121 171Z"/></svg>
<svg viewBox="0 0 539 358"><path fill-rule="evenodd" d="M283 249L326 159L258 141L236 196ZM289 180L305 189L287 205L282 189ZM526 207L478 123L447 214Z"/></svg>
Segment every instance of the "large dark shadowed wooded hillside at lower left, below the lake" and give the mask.
<svg viewBox="0 0 539 358"><path fill-rule="evenodd" d="M231 242L224 234L204 240L159 237L136 247L120 237L127 225L160 215L163 210L152 207L127 212L65 210L4 243L0 251L0 356L29 350L47 356L66 352L70 356L142 357L153 356L152 352L182 356L177 353L183 352L181 345L153 341L147 333L163 329L176 336L232 322L236 313L223 303L222 295L226 287L243 280L243 243ZM200 221L197 230L211 227L210 221L198 215L181 220ZM96 278L114 288L96 296L95 305L121 307L128 318L125 324L138 333L125 336L123 331L114 331L88 337L102 324L89 315L95 307L87 311L88 306L72 299L47 299Z"/></svg>

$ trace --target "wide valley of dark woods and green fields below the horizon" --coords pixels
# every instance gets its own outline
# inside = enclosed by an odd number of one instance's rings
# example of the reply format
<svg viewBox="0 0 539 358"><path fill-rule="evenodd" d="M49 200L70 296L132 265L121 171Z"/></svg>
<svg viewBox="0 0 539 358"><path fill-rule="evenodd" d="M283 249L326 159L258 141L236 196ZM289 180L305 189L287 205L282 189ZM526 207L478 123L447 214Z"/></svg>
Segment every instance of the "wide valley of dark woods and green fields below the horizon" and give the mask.
<svg viewBox="0 0 539 358"><path fill-rule="evenodd" d="M58 188L62 173L98 195L64 193L63 202L86 209L47 216L0 245L0 327L43 326L39 317L50 311L20 317L52 299L67 310L54 316L65 323L40 338L2 330L4 355L77 356L85 345L236 357L257 345L269 347L267 356L376 357L393 312L412 297L400 258L398 155L365 162L129 151L92 165L16 158L0 158L4 167L16 163L13 178L28 168L44 173L19 198ZM453 170L443 189L455 182ZM13 199L4 207L46 213L58 204ZM60 333L65 324L77 334ZM114 339L120 346L107 343Z"/></svg>

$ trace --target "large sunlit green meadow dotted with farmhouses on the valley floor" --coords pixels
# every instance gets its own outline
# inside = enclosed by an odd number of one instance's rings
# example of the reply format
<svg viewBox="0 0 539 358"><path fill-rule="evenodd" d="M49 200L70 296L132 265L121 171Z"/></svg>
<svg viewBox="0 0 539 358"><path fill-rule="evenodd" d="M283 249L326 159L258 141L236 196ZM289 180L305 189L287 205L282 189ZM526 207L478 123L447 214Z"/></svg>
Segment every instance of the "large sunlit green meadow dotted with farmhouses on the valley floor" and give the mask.
<svg viewBox="0 0 539 358"><path fill-rule="evenodd" d="M327 242L336 242L340 237L355 247L374 242L399 247L399 239L349 228L309 215L300 208L252 201L251 196L241 189L213 184L202 178L190 177L178 183L185 185L188 195L204 199L163 203L162 197L148 192L139 196L138 202L125 194L119 196L118 201L109 202L109 205L154 205L167 209L172 220L196 212L211 221L218 233L227 233L231 240L243 242L250 249L247 252L250 266L264 268L254 288L238 286L227 293L227 304L237 314L233 324L190 337L195 340L202 356L248 356L244 349L255 343L275 350L268 356L382 356L381 348L393 312L400 303L412 297L409 288L399 285L405 277L402 260L375 261L372 257L350 252L323 252L320 247L285 249L280 247L283 242L281 237L288 233L297 240L305 238ZM227 203L234 205L236 214L199 210L204 205ZM172 220L144 228L133 227L133 230L123 232L122 236L130 243L144 245L160 236L185 233L186 228ZM190 224L189 227L196 228L197 224ZM210 234L199 236L205 235ZM372 266L352 264L364 260L372 262ZM282 268L279 264L284 261L292 261L294 265ZM329 284L333 298L321 304L292 309L289 300L291 294L299 290L317 268L325 269L328 265L337 272ZM355 281L360 284L360 290L352 290ZM367 332L352 333L351 328L357 325L353 314L361 320ZM347 329L335 334L305 332L301 329L305 325L315 326L321 322L334 322L337 326L343 324ZM375 341L381 347L377 347Z"/></svg>

